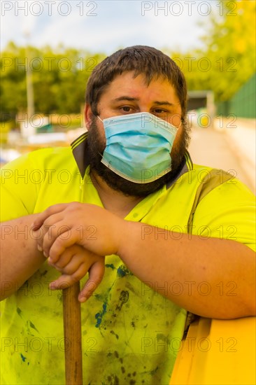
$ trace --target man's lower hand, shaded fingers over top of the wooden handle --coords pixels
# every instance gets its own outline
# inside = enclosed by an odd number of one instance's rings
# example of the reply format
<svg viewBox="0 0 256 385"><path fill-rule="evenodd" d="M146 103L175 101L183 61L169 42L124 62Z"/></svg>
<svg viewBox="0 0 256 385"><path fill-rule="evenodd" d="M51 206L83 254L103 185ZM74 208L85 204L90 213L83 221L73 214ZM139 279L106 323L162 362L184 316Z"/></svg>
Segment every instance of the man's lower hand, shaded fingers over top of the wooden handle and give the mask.
<svg viewBox="0 0 256 385"><path fill-rule="evenodd" d="M50 283L52 290L69 287L89 272L89 279L78 296L80 302L85 302L92 295L104 276L105 258L78 245L66 248L55 263L50 260L48 263L62 273L56 281Z"/></svg>

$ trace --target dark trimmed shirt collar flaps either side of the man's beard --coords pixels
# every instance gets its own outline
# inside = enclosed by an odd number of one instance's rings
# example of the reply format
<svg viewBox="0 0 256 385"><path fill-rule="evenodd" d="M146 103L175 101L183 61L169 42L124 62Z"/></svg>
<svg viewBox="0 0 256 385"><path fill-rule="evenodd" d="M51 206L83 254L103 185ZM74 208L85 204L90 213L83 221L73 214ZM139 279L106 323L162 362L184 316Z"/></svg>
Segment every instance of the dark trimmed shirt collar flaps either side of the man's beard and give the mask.
<svg viewBox="0 0 256 385"><path fill-rule="evenodd" d="M80 135L75 141L71 143L71 150L73 152L73 157L76 160L76 164L78 165L79 172L84 178L85 170L90 165L90 159L87 151L87 136L88 132ZM192 159L190 158L190 154L186 151L185 156L183 158L182 165L180 167L180 171L175 176L175 178L171 179L166 185L166 188L170 188L173 183L175 183L181 175L189 172L193 169Z"/></svg>

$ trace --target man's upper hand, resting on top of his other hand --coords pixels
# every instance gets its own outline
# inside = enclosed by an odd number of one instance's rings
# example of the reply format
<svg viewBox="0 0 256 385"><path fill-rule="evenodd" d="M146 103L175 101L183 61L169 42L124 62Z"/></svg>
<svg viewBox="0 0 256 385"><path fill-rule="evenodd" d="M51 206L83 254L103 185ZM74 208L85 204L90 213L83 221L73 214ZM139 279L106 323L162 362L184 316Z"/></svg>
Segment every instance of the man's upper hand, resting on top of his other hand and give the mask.
<svg viewBox="0 0 256 385"><path fill-rule="evenodd" d="M118 254L126 221L93 204L55 204L39 214L32 230L38 230L38 248L50 263L73 244L97 255ZM40 233L42 232L42 237Z"/></svg>

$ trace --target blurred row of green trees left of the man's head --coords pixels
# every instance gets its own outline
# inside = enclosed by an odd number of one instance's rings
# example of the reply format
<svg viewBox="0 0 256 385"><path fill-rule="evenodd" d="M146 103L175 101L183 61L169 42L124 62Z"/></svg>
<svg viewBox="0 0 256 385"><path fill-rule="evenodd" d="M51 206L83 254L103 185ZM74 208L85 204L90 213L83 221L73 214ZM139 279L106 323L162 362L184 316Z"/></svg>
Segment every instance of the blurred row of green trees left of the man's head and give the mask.
<svg viewBox="0 0 256 385"><path fill-rule="evenodd" d="M31 70L35 113L79 113L85 86L104 55L59 46L18 47L9 43L1 53L1 120L27 111L26 74Z"/></svg>

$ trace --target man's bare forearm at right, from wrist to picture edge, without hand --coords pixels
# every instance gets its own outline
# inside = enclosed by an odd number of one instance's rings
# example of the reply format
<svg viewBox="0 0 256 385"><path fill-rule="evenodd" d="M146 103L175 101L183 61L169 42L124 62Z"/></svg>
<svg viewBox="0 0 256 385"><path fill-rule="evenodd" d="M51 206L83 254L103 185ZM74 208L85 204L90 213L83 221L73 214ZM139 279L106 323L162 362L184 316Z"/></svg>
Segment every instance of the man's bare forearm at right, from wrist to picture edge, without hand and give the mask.
<svg viewBox="0 0 256 385"><path fill-rule="evenodd" d="M211 318L255 314L255 253L226 239L183 235L127 223L129 239L122 241L120 258L142 283L181 307ZM180 238L180 237L178 237ZM145 283L145 284L144 284Z"/></svg>

